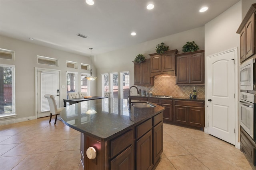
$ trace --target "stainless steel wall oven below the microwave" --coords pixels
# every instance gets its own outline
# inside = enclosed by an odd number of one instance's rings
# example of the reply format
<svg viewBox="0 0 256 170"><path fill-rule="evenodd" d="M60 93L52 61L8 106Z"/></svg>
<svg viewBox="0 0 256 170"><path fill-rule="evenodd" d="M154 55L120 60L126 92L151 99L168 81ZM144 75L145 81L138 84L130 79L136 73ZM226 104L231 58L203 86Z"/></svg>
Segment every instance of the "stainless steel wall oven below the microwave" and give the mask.
<svg viewBox="0 0 256 170"><path fill-rule="evenodd" d="M240 125L256 142L256 95L240 92Z"/></svg>

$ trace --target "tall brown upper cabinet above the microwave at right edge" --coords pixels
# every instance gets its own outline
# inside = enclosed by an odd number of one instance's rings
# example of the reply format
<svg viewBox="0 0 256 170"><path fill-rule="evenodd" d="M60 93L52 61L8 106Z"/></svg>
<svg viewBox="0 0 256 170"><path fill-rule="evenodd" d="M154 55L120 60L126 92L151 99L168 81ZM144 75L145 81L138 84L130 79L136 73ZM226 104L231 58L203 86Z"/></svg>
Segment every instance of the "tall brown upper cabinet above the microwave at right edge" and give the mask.
<svg viewBox="0 0 256 170"><path fill-rule="evenodd" d="M252 4L236 33L240 34L240 63L255 54L256 3Z"/></svg>

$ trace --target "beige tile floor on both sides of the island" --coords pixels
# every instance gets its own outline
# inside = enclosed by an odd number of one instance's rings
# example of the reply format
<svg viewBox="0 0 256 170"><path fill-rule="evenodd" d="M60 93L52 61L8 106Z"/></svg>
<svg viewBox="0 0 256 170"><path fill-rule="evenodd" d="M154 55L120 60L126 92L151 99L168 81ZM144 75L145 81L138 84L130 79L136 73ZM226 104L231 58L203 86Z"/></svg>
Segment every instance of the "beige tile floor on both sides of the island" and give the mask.
<svg viewBox="0 0 256 170"><path fill-rule="evenodd" d="M0 170L82 170L80 133L49 117L0 126ZM246 156L202 131L164 124L156 170L255 170Z"/></svg>

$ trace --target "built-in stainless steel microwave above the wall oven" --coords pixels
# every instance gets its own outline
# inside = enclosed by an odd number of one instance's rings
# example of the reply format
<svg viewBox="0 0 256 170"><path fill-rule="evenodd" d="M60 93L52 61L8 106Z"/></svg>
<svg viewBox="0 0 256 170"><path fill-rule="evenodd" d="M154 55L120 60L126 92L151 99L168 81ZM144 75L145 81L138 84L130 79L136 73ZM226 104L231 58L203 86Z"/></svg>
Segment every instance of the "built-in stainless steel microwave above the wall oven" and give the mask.
<svg viewBox="0 0 256 170"><path fill-rule="evenodd" d="M240 66L240 89L255 90L255 59L249 59Z"/></svg>

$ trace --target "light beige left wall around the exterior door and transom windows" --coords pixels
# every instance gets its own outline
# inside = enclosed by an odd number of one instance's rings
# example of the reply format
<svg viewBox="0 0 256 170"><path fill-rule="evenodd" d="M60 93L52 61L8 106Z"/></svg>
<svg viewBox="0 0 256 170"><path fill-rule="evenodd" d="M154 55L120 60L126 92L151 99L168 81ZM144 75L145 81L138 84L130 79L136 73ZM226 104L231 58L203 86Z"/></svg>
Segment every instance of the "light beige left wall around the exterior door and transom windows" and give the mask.
<svg viewBox="0 0 256 170"><path fill-rule="evenodd" d="M0 59L1 64L15 65L15 92L16 92L16 117L0 119L0 122L13 122L13 120L24 121L26 117L34 117L35 112L35 67L39 68L50 68L61 70L61 85L65 88L60 89L60 100L66 99L66 71L81 72L80 63L90 64L90 56L85 57L82 55L76 55L49 47L12 39L9 37L0 37L0 48L15 51L15 61L8 61ZM89 49L88 49L89 50ZM44 57L51 57L59 60L59 66L49 66L44 64L37 64L37 55ZM78 69L66 68L66 61L74 61L78 63ZM92 68L95 66L92 63ZM84 71L82 71L84 72ZM85 73L89 73L87 71ZM96 69L93 69L94 75L97 74ZM91 95L96 96L96 81L92 82ZM80 83L78 82L78 85ZM78 90L80 86L78 86ZM62 102L63 106L63 102ZM12 120L12 121L11 121Z"/></svg>

